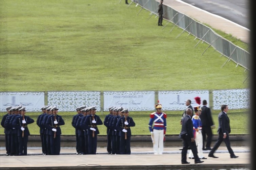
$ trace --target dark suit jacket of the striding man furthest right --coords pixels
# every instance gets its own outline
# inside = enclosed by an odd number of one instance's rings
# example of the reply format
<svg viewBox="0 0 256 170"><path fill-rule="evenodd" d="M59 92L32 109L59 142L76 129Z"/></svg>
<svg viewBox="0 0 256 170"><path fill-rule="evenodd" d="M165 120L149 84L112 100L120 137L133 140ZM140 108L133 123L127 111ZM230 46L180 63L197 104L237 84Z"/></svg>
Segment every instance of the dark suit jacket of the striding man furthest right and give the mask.
<svg viewBox="0 0 256 170"><path fill-rule="evenodd" d="M229 118L228 115L222 111L218 115L218 120L219 120L219 127L218 127L218 133L230 133L230 124L229 124Z"/></svg>

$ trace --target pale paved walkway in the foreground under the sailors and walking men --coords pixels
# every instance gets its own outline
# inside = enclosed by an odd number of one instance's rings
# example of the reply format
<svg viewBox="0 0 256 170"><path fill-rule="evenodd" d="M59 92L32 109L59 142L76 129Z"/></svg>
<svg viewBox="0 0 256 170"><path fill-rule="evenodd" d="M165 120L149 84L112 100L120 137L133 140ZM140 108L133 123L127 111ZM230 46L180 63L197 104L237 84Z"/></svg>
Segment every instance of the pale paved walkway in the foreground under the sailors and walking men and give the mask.
<svg viewBox="0 0 256 170"><path fill-rule="evenodd" d="M150 147L133 147L130 155L108 155L106 148L98 148L96 155L76 155L74 148L62 148L60 155L43 156L40 148L28 148L27 156L4 156L4 147L0 148L0 169L8 169L10 167L25 168L25 167L55 167L60 169L70 167L81 167L82 169L136 169L138 166L145 169L155 169L161 166L162 168L177 168L182 169L181 150L179 147L165 147L163 155L154 155ZM202 164L194 164L194 159L189 159L187 166L197 167L236 167L248 168L250 164L250 149L249 147L232 147L235 154L239 156L236 159L231 159L226 147L220 147L215 155L219 158L209 158L209 150L203 151L204 159ZM136 168L134 168L136 167ZM72 169L73 169L72 168Z"/></svg>

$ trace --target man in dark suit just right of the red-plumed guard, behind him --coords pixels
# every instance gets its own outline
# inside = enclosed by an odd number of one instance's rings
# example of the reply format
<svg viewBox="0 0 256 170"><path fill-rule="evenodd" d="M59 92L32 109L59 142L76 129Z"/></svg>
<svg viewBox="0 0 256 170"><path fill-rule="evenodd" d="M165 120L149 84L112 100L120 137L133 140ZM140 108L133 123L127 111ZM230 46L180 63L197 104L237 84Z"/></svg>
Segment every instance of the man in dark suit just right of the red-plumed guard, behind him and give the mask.
<svg viewBox="0 0 256 170"><path fill-rule="evenodd" d="M203 100L203 106L201 107L202 112L200 114L200 119L202 121L202 136L203 136L203 150L211 150L212 142L212 129L215 128L214 122L212 120L212 112L209 107L207 107L207 101ZM204 148L204 141L206 139L206 147Z"/></svg>

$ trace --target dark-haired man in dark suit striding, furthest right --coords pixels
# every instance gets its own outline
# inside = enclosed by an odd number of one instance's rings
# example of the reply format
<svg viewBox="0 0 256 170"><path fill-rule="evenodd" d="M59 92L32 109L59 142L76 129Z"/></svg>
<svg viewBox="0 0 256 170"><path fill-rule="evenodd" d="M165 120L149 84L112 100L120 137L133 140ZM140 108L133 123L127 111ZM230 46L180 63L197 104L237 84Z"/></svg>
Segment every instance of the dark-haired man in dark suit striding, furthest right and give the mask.
<svg viewBox="0 0 256 170"><path fill-rule="evenodd" d="M208 156L212 158L218 158L217 156L214 156L214 152L220 147L220 144L222 141L225 142L226 147L228 149L228 152L230 153L230 158L238 158L233 152L233 150L230 147L230 140L229 140L229 134L231 132L230 129L230 121L227 115L228 112L228 105L222 105L221 106L221 112L218 115L218 120L219 120L219 127L218 127L218 140L215 143L214 147L212 150L209 152Z"/></svg>

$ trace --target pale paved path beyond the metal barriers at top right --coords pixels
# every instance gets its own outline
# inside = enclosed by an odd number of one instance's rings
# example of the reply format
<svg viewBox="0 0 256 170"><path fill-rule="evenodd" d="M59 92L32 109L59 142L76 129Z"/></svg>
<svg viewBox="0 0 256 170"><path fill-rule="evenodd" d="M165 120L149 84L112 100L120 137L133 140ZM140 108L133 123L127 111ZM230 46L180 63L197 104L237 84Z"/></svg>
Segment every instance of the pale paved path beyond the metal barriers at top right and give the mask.
<svg viewBox="0 0 256 170"><path fill-rule="evenodd" d="M160 0L158 0L158 2L160 2ZM250 30L242 27L241 25L196 8L190 4L186 4L181 0L164 0L163 4L170 6L174 10L186 14L187 16L190 16L201 23L206 23L214 29L231 34L233 37L236 37L245 43L250 43Z"/></svg>

